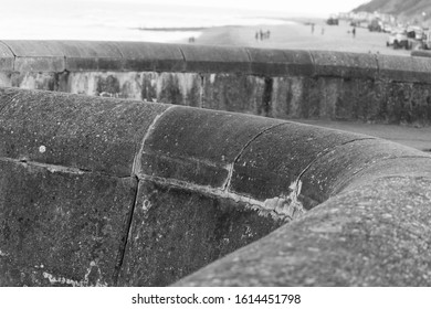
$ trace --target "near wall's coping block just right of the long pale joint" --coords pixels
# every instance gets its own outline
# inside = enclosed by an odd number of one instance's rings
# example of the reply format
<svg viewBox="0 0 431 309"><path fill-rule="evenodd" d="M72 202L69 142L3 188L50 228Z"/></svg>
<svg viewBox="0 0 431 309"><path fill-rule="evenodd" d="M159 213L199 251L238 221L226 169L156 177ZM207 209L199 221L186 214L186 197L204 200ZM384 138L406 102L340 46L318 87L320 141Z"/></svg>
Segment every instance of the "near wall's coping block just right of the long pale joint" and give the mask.
<svg viewBox="0 0 431 309"><path fill-rule="evenodd" d="M223 190L243 148L280 124L246 115L171 108L147 136L137 174Z"/></svg>

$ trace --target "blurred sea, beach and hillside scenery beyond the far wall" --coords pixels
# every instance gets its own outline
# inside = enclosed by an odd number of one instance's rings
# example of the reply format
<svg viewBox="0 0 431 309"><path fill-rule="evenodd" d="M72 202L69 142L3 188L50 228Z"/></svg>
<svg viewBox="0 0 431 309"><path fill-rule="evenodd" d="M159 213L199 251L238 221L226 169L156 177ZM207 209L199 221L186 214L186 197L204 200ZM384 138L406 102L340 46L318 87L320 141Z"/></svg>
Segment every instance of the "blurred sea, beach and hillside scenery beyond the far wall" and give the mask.
<svg viewBox="0 0 431 309"><path fill-rule="evenodd" d="M146 41L410 54L429 0L0 0L0 40Z"/></svg>

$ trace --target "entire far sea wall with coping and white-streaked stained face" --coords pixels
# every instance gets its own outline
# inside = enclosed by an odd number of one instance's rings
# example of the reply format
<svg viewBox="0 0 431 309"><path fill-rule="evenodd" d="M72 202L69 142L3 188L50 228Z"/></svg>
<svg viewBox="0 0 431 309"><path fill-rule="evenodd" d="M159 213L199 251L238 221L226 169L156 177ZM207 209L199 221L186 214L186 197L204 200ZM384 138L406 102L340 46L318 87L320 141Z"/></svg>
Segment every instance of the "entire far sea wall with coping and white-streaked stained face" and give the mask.
<svg viewBox="0 0 431 309"><path fill-rule="evenodd" d="M431 58L138 42L1 41L0 86L428 126Z"/></svg>

